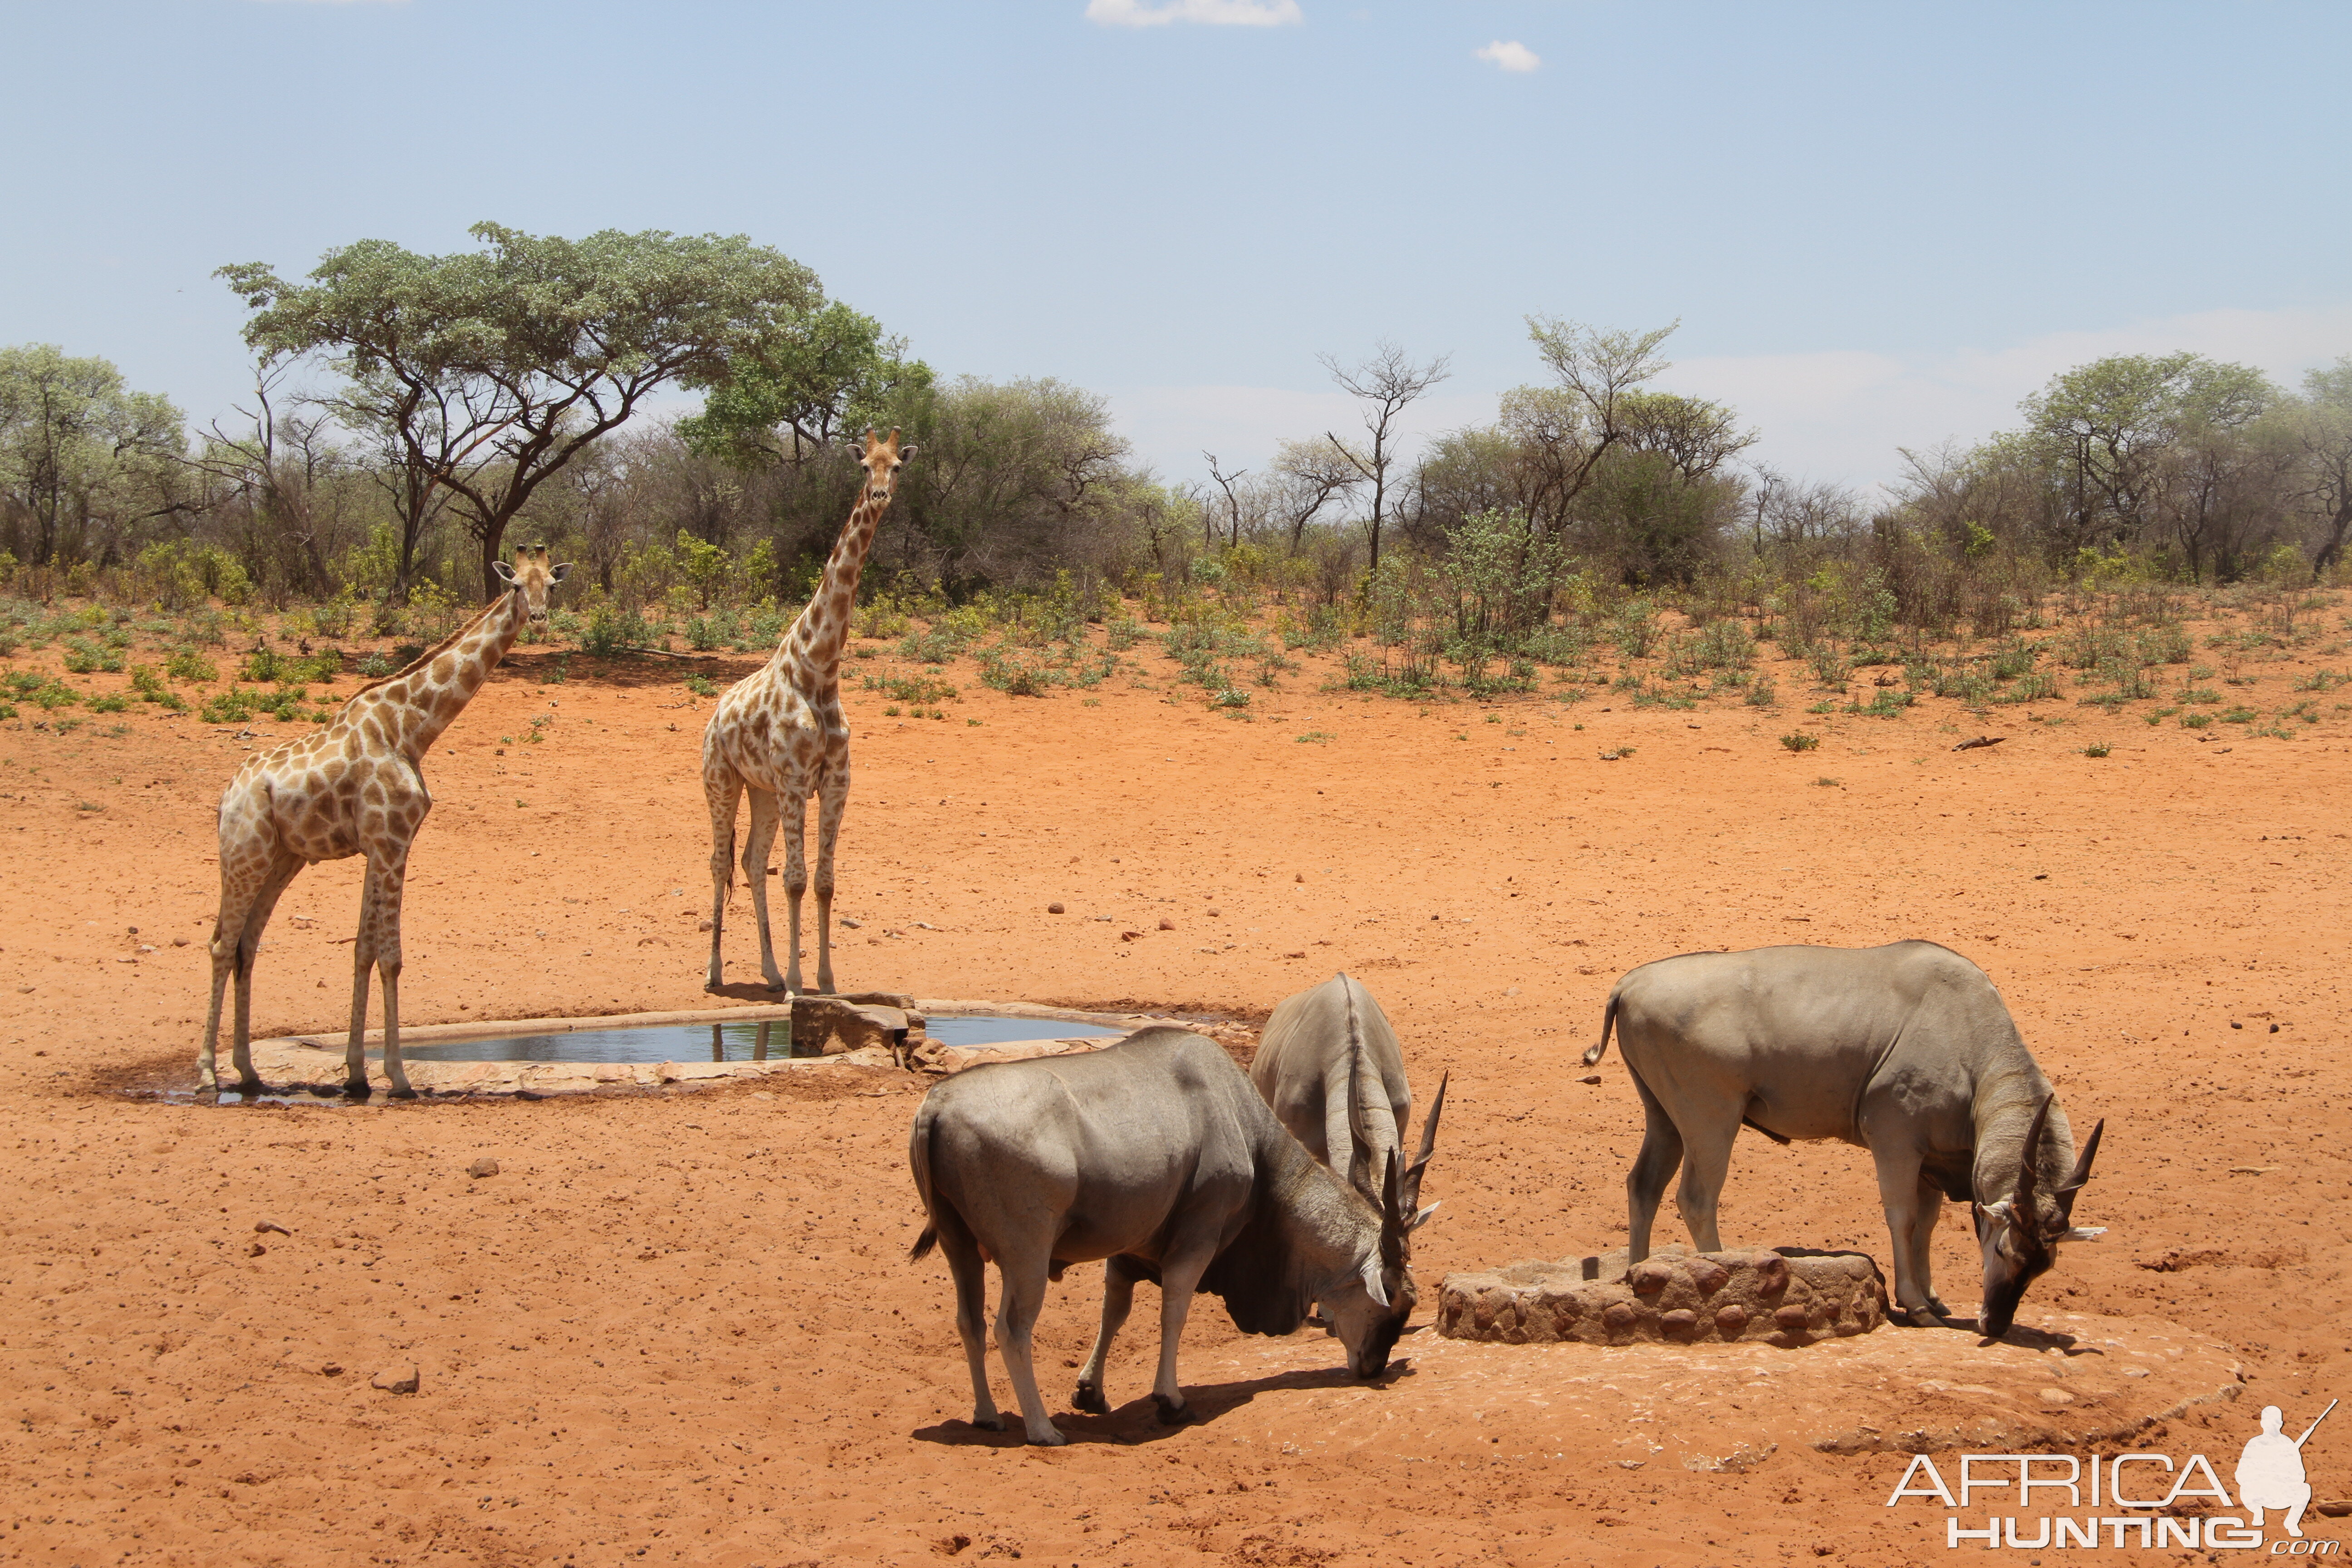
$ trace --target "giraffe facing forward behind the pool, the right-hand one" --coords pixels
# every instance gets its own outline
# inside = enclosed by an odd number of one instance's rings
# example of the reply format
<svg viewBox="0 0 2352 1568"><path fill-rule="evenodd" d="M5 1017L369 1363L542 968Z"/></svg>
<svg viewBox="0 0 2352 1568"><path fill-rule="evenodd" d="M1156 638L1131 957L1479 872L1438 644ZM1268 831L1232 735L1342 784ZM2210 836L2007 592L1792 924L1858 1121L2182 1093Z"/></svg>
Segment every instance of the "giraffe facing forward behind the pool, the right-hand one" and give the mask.
<svg viewBox="0 0 2352 1568"><path fill-rule="evenodd" d="M816 990L833 992L833 842L849 804L849 719L842 717L842 644L849 639L849 607L858 571L873 550L875 529L889 510L898 468L915 456L898 433L858 444L866 484L849 510L826 576L809 607L755 675L739 679L720 698L703 729L703 799L710 806L710 976L720 987L720 936L727 929L727 896L734 891L734 813L750 790L750 827L743 835L743 875L750 907L760 917L760 973L769 990L800 994L800 896L809 886L807 809L816 797ZM790 910L790 957L776 973L776 947L767 924L767 853L786 818L783 896Z"/></svg>

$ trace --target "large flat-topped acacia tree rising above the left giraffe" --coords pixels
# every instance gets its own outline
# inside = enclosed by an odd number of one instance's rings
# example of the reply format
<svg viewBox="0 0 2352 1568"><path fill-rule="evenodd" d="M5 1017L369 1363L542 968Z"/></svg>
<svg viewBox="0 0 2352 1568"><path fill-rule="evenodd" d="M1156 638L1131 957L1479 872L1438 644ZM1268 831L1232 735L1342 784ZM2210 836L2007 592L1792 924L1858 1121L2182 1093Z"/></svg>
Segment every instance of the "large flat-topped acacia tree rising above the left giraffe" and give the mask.
<svg viewBox="0 0 2352 1568"><path fill-rule="evenodd" d="M823 306L816 275L746 235L586 240L475 223L480 252L360 240L308 282L216 273L254 310L263 362L327 355L346 400L456 496L492 592L506 524L668 383L724 386Z"/></svg>

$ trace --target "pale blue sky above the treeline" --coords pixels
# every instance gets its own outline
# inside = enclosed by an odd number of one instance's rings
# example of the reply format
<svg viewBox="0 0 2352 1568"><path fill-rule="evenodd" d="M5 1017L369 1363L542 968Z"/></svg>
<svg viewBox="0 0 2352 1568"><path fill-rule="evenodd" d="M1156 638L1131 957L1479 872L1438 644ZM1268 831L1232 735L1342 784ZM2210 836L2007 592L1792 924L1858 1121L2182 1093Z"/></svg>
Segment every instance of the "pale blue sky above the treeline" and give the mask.
<svg viewBox="0 0 2352 1568"><path fill-rule="evenodd" d="M475 219L748 233L1169 477L1383 336L1486 421L1526 313L1679 317L1665 386L1846 482L2103 353L2352 353L2345 5L19 0L0 59L0 343L198 418L212 268Z"/></svg>

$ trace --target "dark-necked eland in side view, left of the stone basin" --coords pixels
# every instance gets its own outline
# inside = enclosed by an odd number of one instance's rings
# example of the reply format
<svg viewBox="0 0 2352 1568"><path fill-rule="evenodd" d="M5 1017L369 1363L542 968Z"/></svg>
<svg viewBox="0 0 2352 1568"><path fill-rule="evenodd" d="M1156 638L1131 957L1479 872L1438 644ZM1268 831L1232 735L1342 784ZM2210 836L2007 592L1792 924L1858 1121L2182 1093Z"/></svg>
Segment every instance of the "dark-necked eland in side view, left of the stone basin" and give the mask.
<svg viewBox="0 0 2352 1568"><path fill-rule="evenodd" d="M1103 1326L1073 1403L1108 1413L1103 1363L1138 1279L1160 1286L1160 1420L1190 1420L1176 1345L1195 1291L1242 1333L1284 1335L1319 1300L1357 1378L1378 1378L1414 1312L1406 1215L1437 1143L1444 1088L1411 1166L1395 1152L1378 1199L1315 1164L1209 1039L1141 1030L1105 1051L969 1067L915 1112L908 1164L955 1274L955 1328L971 1368L971 1425L1002 1432L988 1394L983 1262L997 1265L997 1352L1028 1441L1058 1446L1037 1396L1030 1331L1044 1286L1103 1258Z"/></svg>

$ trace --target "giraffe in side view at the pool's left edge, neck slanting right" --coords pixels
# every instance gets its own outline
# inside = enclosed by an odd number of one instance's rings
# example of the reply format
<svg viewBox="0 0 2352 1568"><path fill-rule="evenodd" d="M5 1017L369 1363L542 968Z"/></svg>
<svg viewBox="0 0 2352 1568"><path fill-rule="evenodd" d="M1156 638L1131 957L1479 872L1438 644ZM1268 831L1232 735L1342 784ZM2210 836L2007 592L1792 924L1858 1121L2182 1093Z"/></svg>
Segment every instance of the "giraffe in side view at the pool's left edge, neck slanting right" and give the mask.
<svg viewBox="0 0 2352 1568"><path fill-rule="evenodd" d="M214 1046L230 973L238 978L230 1037L238 1088L245 1095L261 1088L252 1058L254 954L278 896L306 865L367 856L343 1088L367 1095L362 1034L367 971L376 966L383 971L383 1074L393 1098L414 1098L400 1065L400 889L409 844L433 809L419 764L515 646L522 625L546 625L548 590L572 571L569 564L550 567L546 545L517 545L513 567L494 564L508 588L473 621L397 675L360 686L325 729L247 757L221 792L221 912L212 926L212 1009L195 1056L200 1091L219 1088Z"/></svg>

